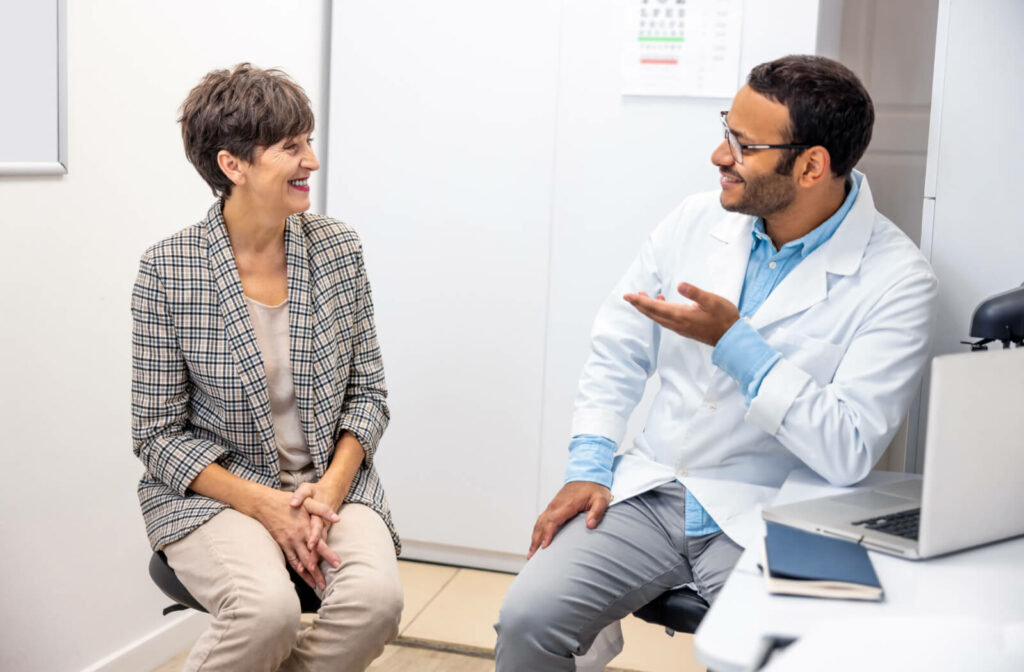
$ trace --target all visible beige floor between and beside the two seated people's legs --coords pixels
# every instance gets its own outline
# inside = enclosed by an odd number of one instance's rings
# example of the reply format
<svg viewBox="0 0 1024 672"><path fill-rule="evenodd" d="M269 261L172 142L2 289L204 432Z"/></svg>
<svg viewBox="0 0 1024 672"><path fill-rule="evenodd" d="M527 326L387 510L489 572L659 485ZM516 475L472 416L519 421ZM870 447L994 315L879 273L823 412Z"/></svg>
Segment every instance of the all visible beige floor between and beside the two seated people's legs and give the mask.
<svg viewBox="0 0 1024 672"><path fill-rule="evenodd" d="M395 642L399 645L388 646L371 666L372 672L493 670L494 661L481 656L494 650L492 626L513 575L406 560L398 562L398 570L406 589L406 611ZM611 662L611 668L637 672L703 670L694 659L691 635L670 637L663 628L633 617L623 622L623 634L626 647ZM178 672L185 655L154 672Z"/></svg>

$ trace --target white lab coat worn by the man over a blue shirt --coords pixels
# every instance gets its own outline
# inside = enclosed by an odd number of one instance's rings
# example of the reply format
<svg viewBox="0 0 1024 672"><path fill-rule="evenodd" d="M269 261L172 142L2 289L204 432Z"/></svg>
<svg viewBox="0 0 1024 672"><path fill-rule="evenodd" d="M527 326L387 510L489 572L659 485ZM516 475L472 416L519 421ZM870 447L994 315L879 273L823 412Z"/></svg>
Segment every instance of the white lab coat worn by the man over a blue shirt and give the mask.
<svg viewBox="0 0 1024 672"><path fill-rule="evenodd" d="M937 282L914 244L874 210L867 180L835 235L749 316L782 359L748 407L712 347L626 303L687 282L738 304L754 218L718 192L683 201L645 243L594 324L572 434L621 443L647 378L660 379L642 434L614 464L615 502L680 479L729 537L755 541L753 517L794 468L836 485L863 478L906 415L928 361Z"/></svg>

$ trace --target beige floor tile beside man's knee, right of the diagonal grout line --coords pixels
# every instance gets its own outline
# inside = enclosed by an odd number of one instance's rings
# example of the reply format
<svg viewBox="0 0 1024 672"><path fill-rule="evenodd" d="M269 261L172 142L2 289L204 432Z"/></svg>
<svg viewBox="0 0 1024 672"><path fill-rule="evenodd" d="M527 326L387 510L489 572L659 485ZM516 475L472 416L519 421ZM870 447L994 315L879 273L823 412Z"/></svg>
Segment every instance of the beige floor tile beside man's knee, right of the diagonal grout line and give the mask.
<svg viewBox="0 0 1024 672"><path fill-rule="evenodd" d="M494 624L514 579L511 574L459 570L444 590L406 628L402 636L493 649Z"/></svg>

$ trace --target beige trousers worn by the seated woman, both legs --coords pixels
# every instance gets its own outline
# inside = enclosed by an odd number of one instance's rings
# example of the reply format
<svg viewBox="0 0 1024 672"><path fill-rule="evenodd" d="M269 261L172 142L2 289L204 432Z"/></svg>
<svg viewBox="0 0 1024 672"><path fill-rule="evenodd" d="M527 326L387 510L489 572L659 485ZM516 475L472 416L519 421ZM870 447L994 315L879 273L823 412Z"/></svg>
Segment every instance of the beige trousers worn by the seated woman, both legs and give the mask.
<svg viewBox="0 0 1024 672"><path fill-rule="evenodd" d="M285 490L309 480L286 474ZM328 533L337 570L313 624L300 631L299 599L285 557L255 518L225 509L164 548L181 583L213 615L183 670L361 671L398 632L402 591L391 535L361 504L344 504Z"/></svg>

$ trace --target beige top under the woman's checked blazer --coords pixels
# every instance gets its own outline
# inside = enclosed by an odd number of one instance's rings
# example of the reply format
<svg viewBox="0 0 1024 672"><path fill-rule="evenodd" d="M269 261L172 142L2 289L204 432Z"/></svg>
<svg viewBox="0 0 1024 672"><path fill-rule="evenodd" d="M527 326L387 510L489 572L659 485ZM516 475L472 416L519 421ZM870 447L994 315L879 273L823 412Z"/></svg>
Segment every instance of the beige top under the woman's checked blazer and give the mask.
<svg viewBox="0 0 1024 672"><path fill-rule="evenodd" d="M298 471L312 463L299 420L292 381L292 359L288 338L288 299L266 305L246 297L256 342L263 354L266 391L270 396L270 419L278 439L282 471Z"/></svg>

